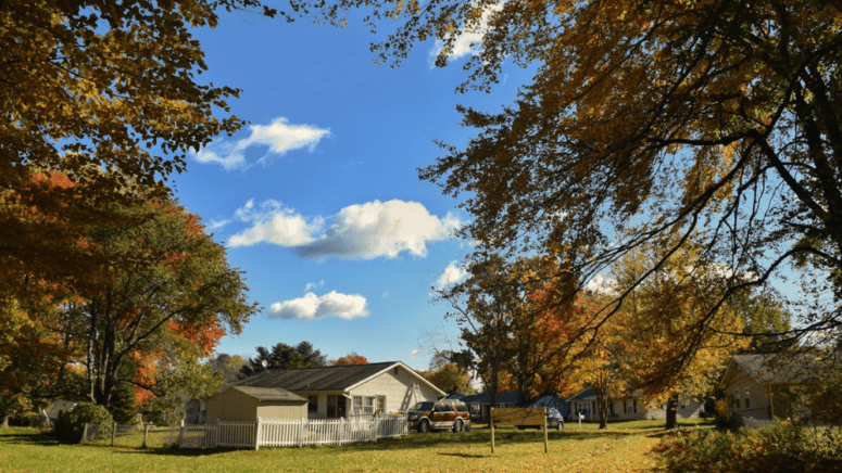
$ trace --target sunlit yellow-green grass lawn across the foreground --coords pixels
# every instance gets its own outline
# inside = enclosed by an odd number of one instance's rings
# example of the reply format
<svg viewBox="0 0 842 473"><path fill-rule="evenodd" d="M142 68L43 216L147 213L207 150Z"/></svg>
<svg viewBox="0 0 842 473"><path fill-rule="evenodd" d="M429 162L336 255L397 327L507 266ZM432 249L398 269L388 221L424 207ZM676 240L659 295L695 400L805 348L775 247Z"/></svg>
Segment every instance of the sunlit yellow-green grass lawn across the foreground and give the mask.
<svg viewBox="0 0 842 473"><path fill-rule="evenodd" d="M254 450L178 450L61 445L36 430L0 430L0 472L367 472L558 471L641 472L654 466L649 450L664 421L637 421L598 431L568 424L550 432L550 452L538 431L503 427L491 453L490 431L411 434L377 443Z"/></svg>

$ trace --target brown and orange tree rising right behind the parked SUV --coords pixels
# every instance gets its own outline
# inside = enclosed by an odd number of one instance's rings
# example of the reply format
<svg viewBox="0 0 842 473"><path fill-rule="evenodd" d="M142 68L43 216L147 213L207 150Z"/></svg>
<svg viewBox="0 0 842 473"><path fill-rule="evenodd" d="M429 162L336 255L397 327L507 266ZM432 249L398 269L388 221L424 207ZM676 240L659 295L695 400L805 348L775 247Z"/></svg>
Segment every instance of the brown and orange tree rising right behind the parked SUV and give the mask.
<svg viewBox="0 0 842 473"><path fill-rule="evenodd" d="M562 265L552 257L523 257L508 261L486 255L468 265L468 278L440 292L452 310L466 351L451 353L458 366L476 370L492 394L502 388L518 393L526 404L539 393L556 391L569 351L558 343L576 328L554 315L569 306L555 278Z"/></svg>

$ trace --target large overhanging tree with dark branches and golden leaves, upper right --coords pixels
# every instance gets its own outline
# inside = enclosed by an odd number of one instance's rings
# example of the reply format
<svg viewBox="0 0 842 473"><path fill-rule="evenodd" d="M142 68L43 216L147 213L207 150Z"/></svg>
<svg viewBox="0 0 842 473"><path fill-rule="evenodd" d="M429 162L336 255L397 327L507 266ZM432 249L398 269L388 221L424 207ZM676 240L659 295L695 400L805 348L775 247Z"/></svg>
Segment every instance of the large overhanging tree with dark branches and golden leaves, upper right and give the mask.
<svg viewBox="0 0 842 473"><path fill-rule="evenodd" d="M502 111L461 107L476 137L443 144L420 170L467 195L466 239L500 252L564 247L585 283L675 237L643 282L692 237L705 261L752 278L716 294L687 330L704 331L726 301L790 267L806 273L807 307L789 335L842 324L839 1L292 4L292 16L336 24L366 8L373 29L395 28L374 44L386 61L436 38L443 66L460 35L481 33L462 90L489 90L504 63L533 68ZM703 335L682 349L700 349Z"/></svg>

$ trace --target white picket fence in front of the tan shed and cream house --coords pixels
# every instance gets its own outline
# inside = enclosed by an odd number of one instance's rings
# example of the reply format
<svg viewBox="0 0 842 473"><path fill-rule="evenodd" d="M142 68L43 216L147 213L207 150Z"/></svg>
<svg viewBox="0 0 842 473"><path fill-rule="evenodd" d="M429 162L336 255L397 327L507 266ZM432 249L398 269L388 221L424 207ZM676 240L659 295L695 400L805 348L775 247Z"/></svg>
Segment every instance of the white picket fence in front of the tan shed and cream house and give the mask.
<svg viewBox="0 0 842 473"><path fill-rule="evenodd" d="M368 417L328 420L257 419L217 421L211 425L181 425L180 448L301 447L342 445L406 435L405 417Z"/></svg>

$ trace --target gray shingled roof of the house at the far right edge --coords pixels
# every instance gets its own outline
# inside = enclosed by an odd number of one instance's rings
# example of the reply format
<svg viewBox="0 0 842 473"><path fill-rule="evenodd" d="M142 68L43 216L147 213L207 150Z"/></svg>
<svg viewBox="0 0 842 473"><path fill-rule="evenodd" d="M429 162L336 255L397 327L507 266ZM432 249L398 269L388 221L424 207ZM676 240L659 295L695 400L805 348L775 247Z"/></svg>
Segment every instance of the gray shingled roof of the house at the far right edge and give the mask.
<svg viewBox="0 0 842 473"><path fill-rule="evenodd" d="M832 368L832 359L815 355L736 355L733 361L762 384L809 383Z"/></svg>

